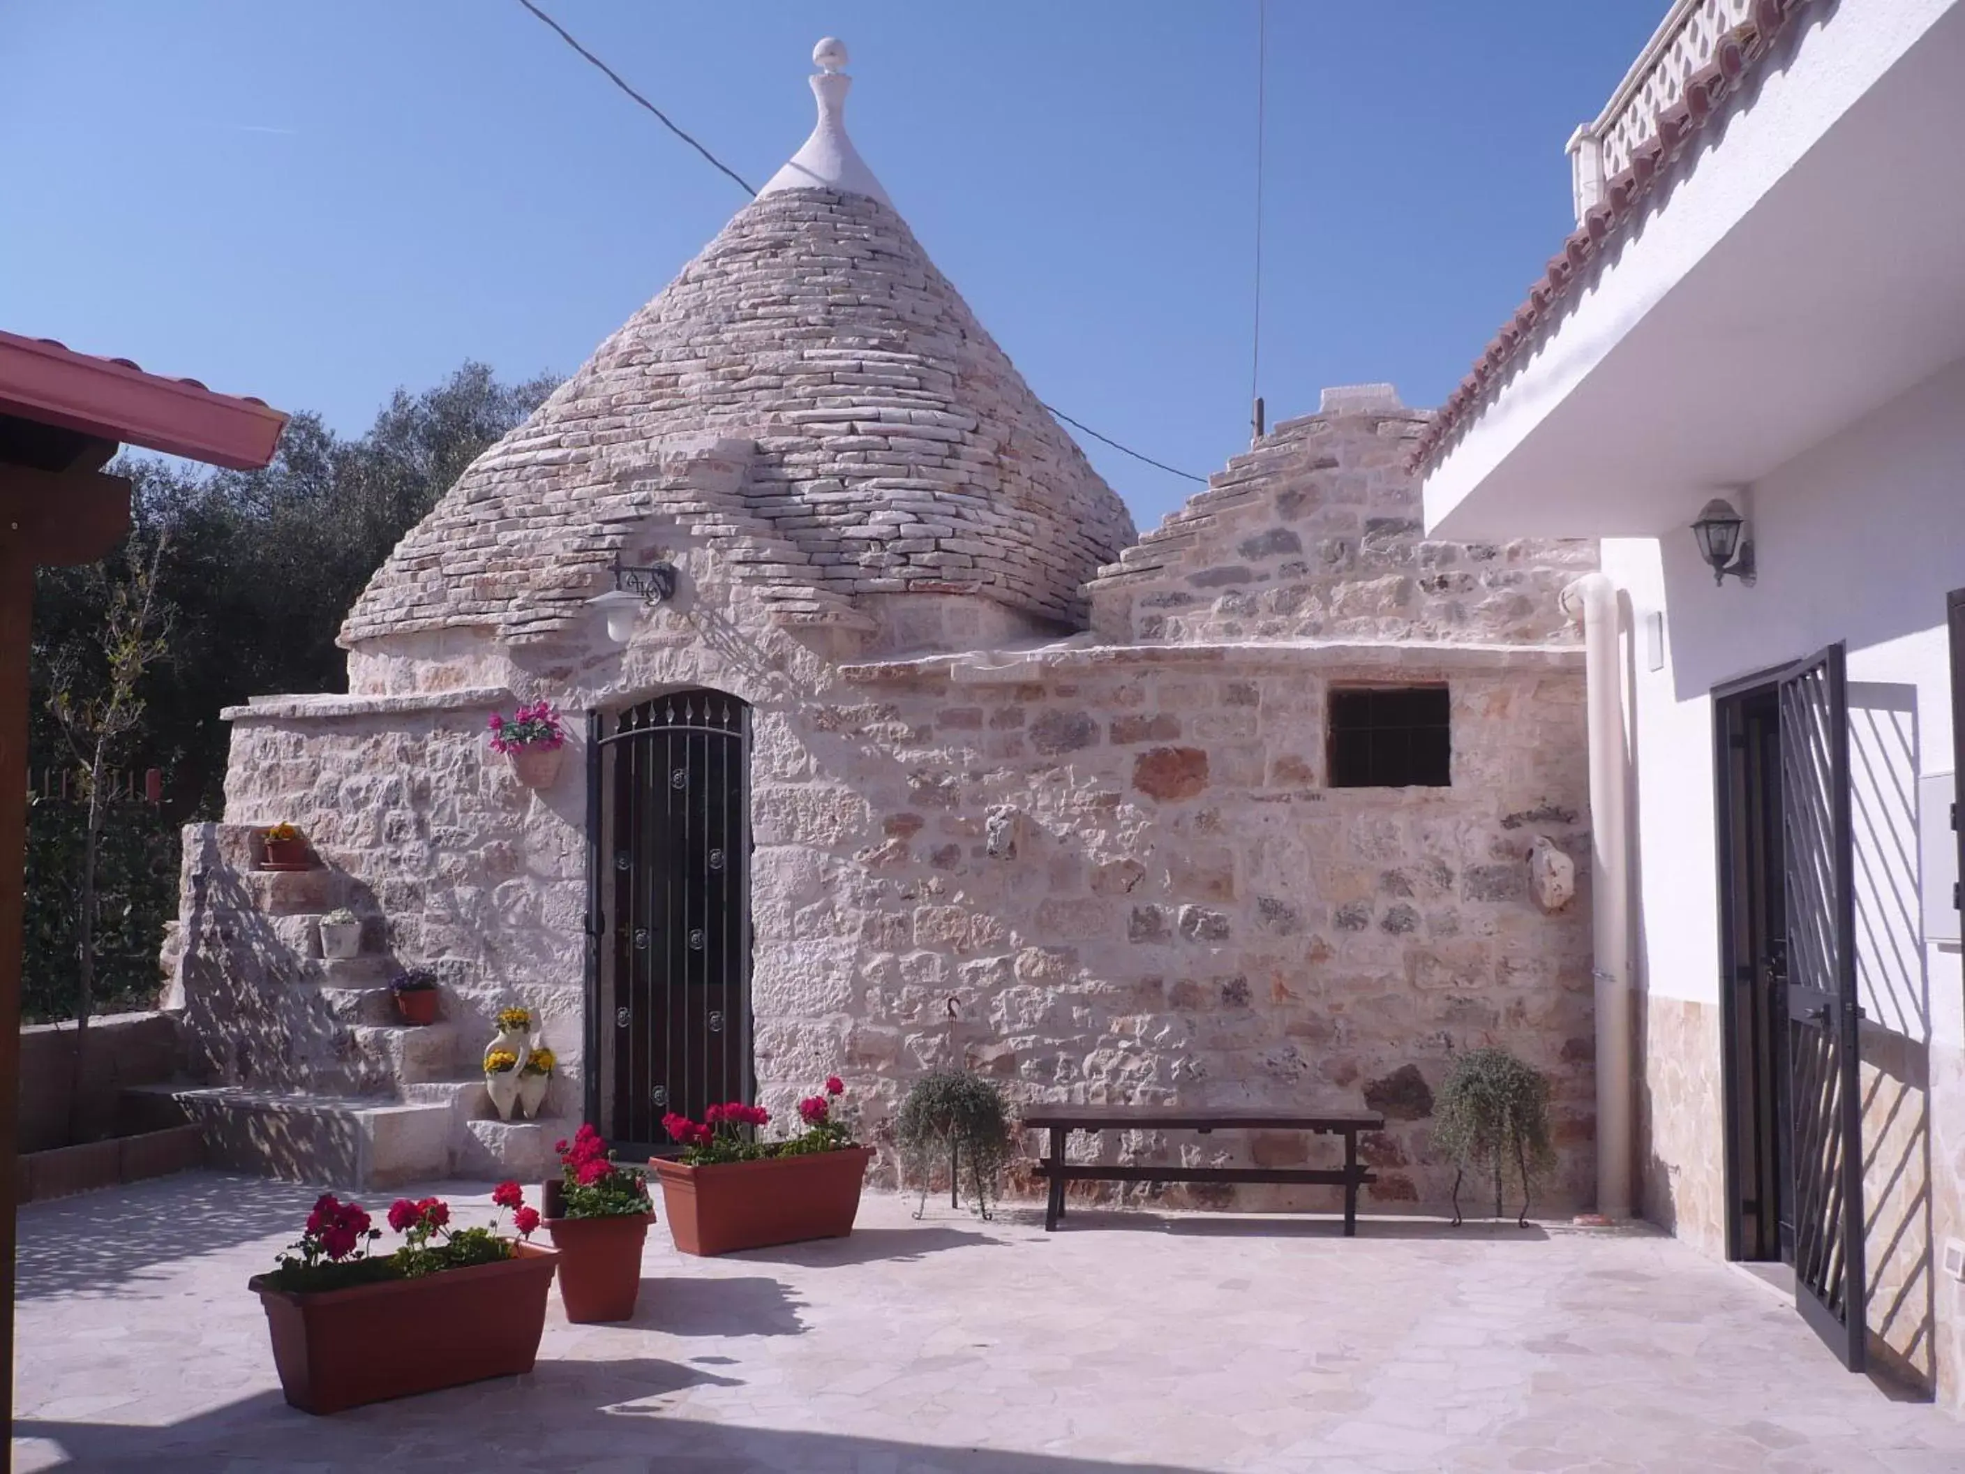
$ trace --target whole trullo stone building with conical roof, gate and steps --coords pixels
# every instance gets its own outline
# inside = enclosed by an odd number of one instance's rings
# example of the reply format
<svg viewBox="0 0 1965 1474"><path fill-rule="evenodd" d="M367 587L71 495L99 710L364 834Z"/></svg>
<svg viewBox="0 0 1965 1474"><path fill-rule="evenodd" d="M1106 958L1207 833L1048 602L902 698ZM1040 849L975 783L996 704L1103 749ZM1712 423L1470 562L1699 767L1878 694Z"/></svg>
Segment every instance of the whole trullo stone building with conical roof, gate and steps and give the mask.
<svg viewBox="0 0 1965 1474"><path fill-rule="evenodd" d="M1527 857L1588 855L1556 595L1592 550L1425 539L1429 417L1383 387L1134 542L847 142L839 59L792 163L377 570L350 694L228 713L167 955L214 1150L536 1173L582 1114L646 1148L835 1071L878 1130L967 1059L1020 1099L1370 1101L1376 1201L1432 1207L1431 1089L1503 1042L1556 1079L1550 1207L1588 1197L1588 898ZM595 607L617 564L672 595ZM533 700L574 727L540 790L485 745ZM320 869L253 867L275 822ZM444 1022L393 1022L399 967ZM560 1057L538 1124L477 1075L511 1002ZM1197 1140L1110 1150L1303 1150Z"/></svg>

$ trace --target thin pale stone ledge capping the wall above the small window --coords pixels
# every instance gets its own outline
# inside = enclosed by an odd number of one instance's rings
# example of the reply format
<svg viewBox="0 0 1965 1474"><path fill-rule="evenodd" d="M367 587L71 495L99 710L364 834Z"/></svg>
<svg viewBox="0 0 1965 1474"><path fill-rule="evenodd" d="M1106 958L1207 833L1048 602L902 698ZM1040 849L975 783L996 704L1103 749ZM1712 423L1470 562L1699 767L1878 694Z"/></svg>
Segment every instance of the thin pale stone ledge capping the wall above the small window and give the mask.
<svg viewBox="0 0 1965 1474"><path fill-rule="evenodd" d="M957 684L1016 684L1053 670L1138 666L1289 664L1383 670L1397 676L1448 670L1582 670L1582 645L1495 645L1474 641L1216 641L1207 645L1045 645L1028 651L975 651L916 660L839 666L849 682L945 678Z"/></svg>

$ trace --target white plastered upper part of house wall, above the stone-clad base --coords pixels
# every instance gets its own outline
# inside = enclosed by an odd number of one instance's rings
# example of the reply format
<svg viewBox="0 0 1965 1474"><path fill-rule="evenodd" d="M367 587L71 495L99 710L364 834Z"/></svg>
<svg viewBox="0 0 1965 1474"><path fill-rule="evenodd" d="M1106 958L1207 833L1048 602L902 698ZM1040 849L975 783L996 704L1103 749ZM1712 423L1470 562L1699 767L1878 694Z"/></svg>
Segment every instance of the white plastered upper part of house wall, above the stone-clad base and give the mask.
<svg viewBox="0 0 1965 1474"><path fill-rule="evenodd" d="M1751 489L1757 586L1713 588L1690 531L1603 542L1603 568L1631 607L1637 945L1653 992L1719 996L1712 688L1837 639L1849 645L1859 912L1894 918L1892 934L1873 930L1867 981L1892 994L1908 987L1916 794L1898 788L1953 766L1943 615L1945 594L1965 586L1961 491L1965 362ZM1645 619L1658 609L1666 660L1653 672ZM1932 947L1926 965L1934 1038L1965 1044L1959 953ZM1914 1012L1898 998L1873 1016Z"/></svg>

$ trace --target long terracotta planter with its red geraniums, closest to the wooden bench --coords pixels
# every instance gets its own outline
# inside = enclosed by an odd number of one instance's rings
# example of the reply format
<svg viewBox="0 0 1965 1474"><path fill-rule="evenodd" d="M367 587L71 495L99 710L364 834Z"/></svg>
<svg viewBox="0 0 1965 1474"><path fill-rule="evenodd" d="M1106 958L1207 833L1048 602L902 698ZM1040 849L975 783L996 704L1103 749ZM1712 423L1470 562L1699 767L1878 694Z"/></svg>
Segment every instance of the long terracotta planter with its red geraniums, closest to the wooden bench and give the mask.
<svg viewBox="0 0 1965 1474"><path fill-rule="evenodd" d="M729 1254L853 1232L872 1152L837 1114L843 1093L833 1075L823 1095L800 1101L804 1130L782 1142L757 1140L770 1112L739 1101L709 1106L700 1122L664 1116L662 1128L682 1146L682 1158L652 1158L648 1165L662 1183L676 1248Z"/></svg>

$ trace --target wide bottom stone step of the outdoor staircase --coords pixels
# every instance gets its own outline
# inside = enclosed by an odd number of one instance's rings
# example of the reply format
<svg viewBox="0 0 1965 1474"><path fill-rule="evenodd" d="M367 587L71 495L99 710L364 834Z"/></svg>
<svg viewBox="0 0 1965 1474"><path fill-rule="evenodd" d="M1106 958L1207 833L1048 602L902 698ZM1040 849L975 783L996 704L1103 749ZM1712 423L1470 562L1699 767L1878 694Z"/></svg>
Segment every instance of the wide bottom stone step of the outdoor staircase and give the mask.
<svg viewBox="0 0 1965 1474"><path fill-rule="evenodd" d="M173 1091L212 1167L367 1191L450 1175L452 1110L367 1095Z"/></svg>

